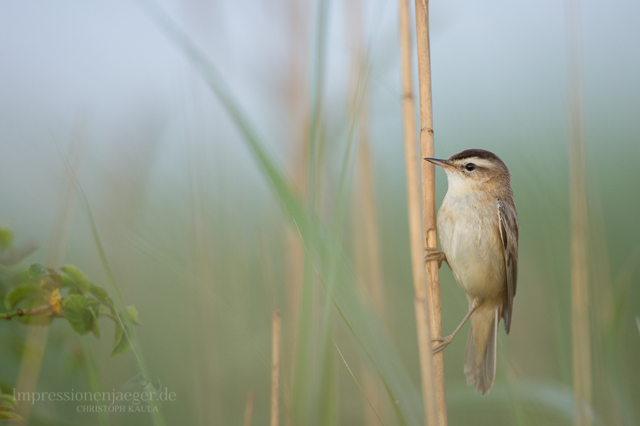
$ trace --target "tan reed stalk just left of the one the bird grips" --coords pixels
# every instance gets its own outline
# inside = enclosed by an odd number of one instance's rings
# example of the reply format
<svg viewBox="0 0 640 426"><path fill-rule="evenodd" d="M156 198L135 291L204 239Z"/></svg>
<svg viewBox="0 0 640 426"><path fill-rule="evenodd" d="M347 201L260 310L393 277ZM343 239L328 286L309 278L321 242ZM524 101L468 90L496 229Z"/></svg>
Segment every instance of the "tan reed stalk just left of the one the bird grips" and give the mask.
<svg viewBox="0 0 640 426"><path fill-rule="evenodd" d="M416 5L416 9L417 5ZM420 37L419 37L420 39ZM434 378L430 308L427 302L425 276L425 244L422 239L420 215L420 181L417 174L415 149L415 107L411 84L411 30L409 27L408 0L400 0L400 50L402 53L402 116L405 133L405 166L407 170L407 209L409 213L409 238L411 265L415 290L415 321L417 328L420 373L422 380L422 405L425 424L438 424L438 407ZM420 43L418 44L420 48ZM420 58L420 55L418 56ZM422 84L420 84L422 87ZM422 98L422 96L421 96ZM422 104L421 104L422 105Z"/></svg>

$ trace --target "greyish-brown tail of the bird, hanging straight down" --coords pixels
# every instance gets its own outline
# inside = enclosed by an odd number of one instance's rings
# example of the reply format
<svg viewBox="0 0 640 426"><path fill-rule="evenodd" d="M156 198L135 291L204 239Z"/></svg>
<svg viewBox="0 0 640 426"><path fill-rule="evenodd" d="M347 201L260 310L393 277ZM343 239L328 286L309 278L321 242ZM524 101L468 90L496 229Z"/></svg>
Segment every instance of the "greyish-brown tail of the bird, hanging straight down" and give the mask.
<svg viewBox="0 0 640 426"><path fill-rule="evenodd" d="M471 315L469 339L466 341L464 356L464 373L466 383L475 383L476 391L480 391L482 395L491 390L496 378L498 314L499 307L486 303Z"/></svg>

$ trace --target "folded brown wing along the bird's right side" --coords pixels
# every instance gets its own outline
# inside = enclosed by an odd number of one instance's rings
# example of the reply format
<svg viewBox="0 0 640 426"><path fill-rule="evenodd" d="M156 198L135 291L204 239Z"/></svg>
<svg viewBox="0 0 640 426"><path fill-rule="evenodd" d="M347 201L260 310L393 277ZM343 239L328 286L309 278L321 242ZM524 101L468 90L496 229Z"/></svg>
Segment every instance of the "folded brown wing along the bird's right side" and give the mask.
<svg viewBox="0 0 640 426"><path fill-rule="evenodd" d="M504 328L508 334L511 327L513 296L516 295L516 282L518 280L518 232L520 229L516 206L513 202L498 200L498 226L500 226L507 281L507 293L502 317L504 319Z"/></svg>

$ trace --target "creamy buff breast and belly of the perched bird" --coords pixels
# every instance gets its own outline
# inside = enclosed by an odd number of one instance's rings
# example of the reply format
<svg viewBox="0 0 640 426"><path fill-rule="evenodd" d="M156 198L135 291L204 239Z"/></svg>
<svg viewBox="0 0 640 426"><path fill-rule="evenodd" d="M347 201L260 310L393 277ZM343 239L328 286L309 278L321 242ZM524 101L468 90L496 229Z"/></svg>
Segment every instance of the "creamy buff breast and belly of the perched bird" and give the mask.
<svg viewBox="0 0 640 426"><path fill-rule="evenodd" d="M506 286L497 200L447 193L438 212L442 251L466 295L497 297Z"/></svg>

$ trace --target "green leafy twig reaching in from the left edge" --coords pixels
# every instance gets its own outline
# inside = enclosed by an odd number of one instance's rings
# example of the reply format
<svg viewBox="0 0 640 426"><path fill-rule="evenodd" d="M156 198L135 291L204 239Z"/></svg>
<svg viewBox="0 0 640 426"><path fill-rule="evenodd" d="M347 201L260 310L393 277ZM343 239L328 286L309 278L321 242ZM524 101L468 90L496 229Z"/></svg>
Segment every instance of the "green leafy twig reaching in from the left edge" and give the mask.
<svg viewBox="0 0 640 426"><path fill-rule="evenodd" d="M13 261L16 250L12 241L11 231L0 229L0 256L9 253L6 257ZM98 319L110 318L115 322L112 355L123 354L131 347L129 329L140 324L134 306L117 312L107 290L90 282L75 266L55 270L33 263L17 271L6 266L1 271L0 286L6 290L6 312L0 312L0 319L17 317L23 324L46 325L54 318L64 318L78 334L93 333L100 338Z"/></svg>

